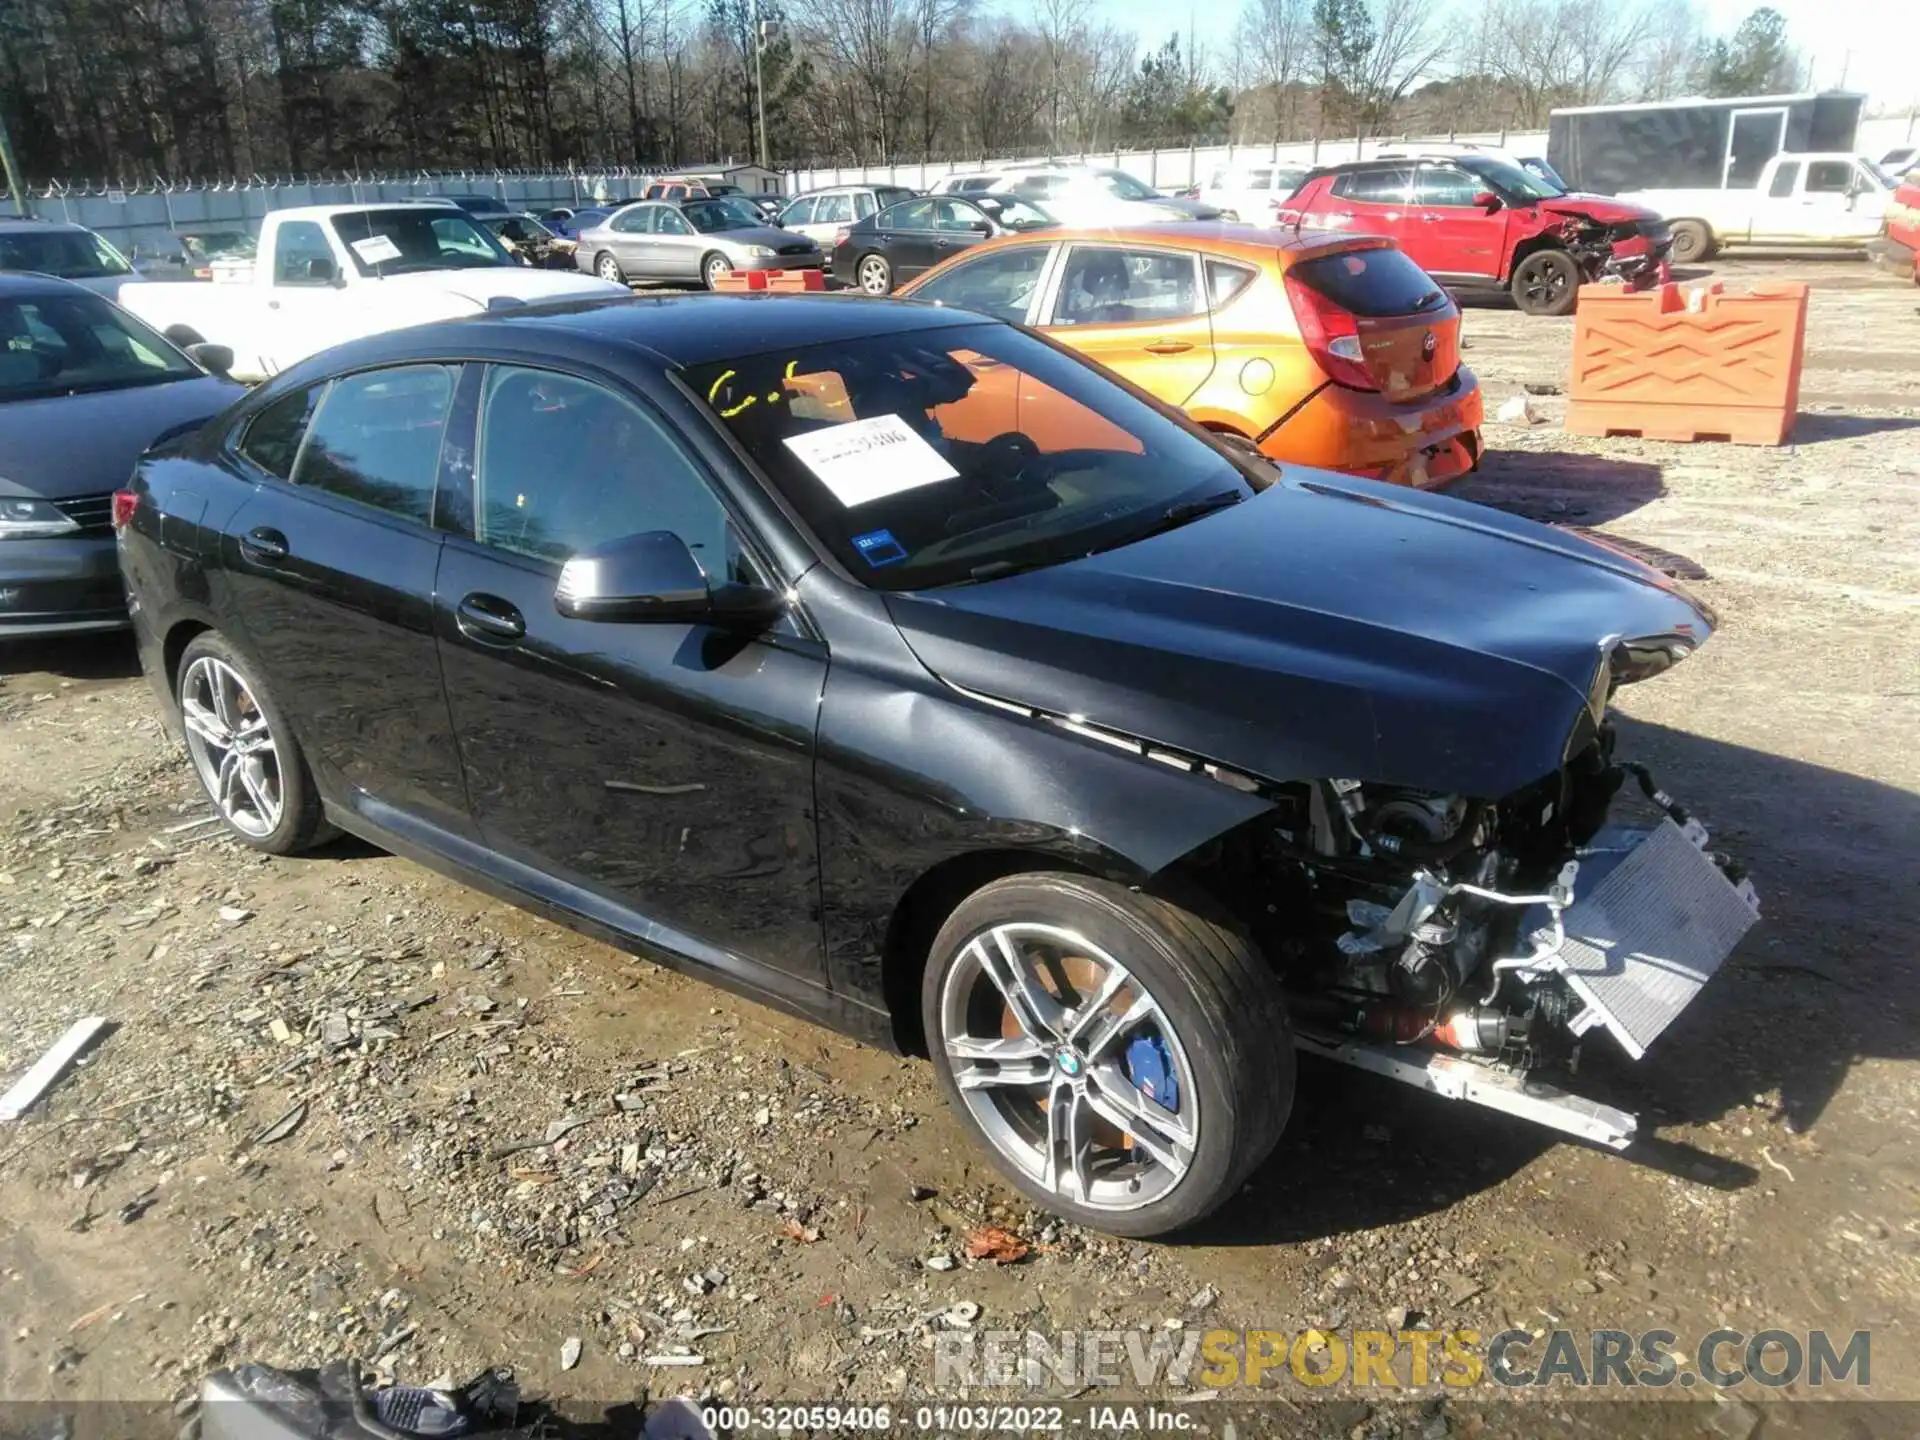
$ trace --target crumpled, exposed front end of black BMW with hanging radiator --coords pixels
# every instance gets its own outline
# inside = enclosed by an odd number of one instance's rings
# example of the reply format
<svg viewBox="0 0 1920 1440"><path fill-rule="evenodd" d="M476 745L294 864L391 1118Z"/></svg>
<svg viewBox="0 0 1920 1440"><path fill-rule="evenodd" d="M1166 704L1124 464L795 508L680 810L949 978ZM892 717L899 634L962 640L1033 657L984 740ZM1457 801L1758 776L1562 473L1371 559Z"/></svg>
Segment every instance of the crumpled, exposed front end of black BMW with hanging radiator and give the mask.
<svg viewBox="0 0 1920 1440"><path fill-rule="evenodd" d="M1759 918L1740 862L1617 758L1605 705L1684 637L1615 641L1551 776L1500 799L1329 778L1192 856L1281 970L1302 1048L1611 1148L1634 1116L1559 1089L1640 1060ZM1617 803L1644 814L1615 818Z"/></svg>

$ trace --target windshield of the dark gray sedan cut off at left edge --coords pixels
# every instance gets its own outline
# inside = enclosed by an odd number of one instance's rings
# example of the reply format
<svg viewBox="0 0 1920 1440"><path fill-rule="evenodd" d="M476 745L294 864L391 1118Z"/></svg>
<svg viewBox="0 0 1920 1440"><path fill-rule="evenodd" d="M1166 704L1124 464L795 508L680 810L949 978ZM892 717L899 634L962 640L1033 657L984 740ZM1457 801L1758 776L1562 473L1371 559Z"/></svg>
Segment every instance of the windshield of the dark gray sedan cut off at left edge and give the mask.
<svg viewBox="0 0 1920 1440"><path fill-rule="evenodd" d="M0 401L188 380L198 369L98 296L0 298Z"/></svg>

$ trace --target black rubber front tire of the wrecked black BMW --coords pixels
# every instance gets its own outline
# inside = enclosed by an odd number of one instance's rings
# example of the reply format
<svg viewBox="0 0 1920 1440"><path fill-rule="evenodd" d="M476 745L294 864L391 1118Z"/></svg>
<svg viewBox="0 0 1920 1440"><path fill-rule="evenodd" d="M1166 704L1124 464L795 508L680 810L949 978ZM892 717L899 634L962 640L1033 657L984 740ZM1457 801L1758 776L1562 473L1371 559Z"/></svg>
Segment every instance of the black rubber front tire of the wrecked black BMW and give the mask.
<svg viewBox="0 0 1920 1440"><path fill-rule="evenodd" d="M960 1092L943 1027L947 981L977 937L1010 924L1066 929L1121 960L1175 1031L1198 1100L1192 1156L1139 1208L1087 1206L1048 1188L1002 1154ZM1002 1175L1037 1206L1112 1235L1165 1235L1217 1210L1273 1152L1292 1110L1294 1044L1273 972L1240 935L1104 879L1023 874L970 895L933 941L920 1010L941 1092ZM1079 1075L1079 1066L1060 1069Z"/></svg>

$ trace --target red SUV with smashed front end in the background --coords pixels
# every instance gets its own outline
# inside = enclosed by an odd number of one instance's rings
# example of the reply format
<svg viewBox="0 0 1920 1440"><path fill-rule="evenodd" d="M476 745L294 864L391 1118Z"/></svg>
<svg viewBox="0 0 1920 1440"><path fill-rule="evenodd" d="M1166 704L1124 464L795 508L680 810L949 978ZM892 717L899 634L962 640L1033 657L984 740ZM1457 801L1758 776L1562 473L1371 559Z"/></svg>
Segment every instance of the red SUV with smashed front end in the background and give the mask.
<svg viewBox="0 0 1920 1440"><path fill-rule="evenodd" d="M1281 225L1400 242L1452 290L1507 290L1528 315L1567 315L1574 292L1667 278L1672 236L1642 205L1561 190L1496 156L1400 156L1329 165L1279 209Z"/></svg>

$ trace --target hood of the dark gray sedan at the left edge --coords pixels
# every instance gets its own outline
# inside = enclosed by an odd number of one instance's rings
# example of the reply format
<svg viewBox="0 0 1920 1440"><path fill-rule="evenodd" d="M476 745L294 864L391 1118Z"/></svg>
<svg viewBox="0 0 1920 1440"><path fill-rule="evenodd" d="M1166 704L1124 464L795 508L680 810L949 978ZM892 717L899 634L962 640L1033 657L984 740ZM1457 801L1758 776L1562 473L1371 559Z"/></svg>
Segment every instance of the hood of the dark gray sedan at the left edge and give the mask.
<svg viewBox="0 0 1920 1440"><path fill-rule="evenodd" d="M104 495L127 484L140 451L232 405L246 386L211 374L169 384L48 396L0 405L0 490L42 499Z"/></svg>

